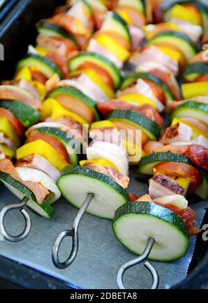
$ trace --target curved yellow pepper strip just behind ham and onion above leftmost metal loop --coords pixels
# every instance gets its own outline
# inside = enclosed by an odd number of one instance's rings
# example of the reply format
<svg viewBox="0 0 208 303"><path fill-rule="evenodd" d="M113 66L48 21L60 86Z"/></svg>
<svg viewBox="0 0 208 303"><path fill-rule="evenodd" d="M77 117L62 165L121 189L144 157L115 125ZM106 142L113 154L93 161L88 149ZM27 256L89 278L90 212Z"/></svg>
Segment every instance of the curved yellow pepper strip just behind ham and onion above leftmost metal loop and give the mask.
<svg viewBox="0 0 208 303"><path fill-rule="evenodd" d="M21 159L32 154L44 157L59 171L62 171L62 169L68 165L67 161L62 158L50 144L41 139L27 143L17 149L17 159Z"/></svg>

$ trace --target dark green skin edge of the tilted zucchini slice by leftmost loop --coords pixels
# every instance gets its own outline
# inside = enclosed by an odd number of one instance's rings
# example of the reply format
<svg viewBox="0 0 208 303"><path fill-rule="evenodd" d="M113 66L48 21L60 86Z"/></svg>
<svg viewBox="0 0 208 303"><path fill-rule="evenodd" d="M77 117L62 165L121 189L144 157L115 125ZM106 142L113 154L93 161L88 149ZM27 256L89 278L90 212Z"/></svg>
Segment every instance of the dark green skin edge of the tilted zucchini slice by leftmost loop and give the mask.
<svg viewBox="0 0 208 303"><path fill-rule="evenodd" d="M38 207L42 209L42 211L45 212L45 218L52 218L55 214L53 207L51 207L51 205L46 200L43 200L42 203L39 204L35 198L34 193L28 189L28 187L13 179L7 173L0 172L0 180L8 183L10 186L17 189L17 191L20 191L22 194L24 194L24 196L26 196L29 200L33 201Z"/></svg>

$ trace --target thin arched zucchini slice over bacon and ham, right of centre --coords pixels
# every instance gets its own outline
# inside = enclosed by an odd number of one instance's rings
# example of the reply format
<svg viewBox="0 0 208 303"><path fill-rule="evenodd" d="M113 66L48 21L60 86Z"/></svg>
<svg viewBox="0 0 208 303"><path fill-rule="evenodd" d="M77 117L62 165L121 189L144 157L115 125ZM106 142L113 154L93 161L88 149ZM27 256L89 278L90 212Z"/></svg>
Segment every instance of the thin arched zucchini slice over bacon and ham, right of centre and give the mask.
<svg viewBox="0 0 208 303"><path fill-rule="evenodd" d="M132 75L126 77L123 80L120 89L125 89L125 87L128 87L130 84L134 83L139 78L143 80L150 80L153 83L159 85L160 87L162 87L162 89L164 89L164 94L166 95L167 100L174 100L174 94L168 87L168 85L166 85L166 83L162 82L162 80L152 75L151 73L133 73Z"/></svg>

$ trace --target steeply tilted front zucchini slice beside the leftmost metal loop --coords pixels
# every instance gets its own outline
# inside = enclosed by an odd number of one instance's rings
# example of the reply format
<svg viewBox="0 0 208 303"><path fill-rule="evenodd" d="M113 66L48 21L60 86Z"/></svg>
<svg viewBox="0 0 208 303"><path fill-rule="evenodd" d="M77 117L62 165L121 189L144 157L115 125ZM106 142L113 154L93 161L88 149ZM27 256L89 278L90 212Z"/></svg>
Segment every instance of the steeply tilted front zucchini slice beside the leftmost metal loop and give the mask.
<svg viewBox="0 0 208 303"><path fill-rule="evenodd" d="M51 218L55 214L55 211L49 202L43 200L42 203L39 204L34 193L28 189L28 187L13 179L7 173L0 172L0 180L15 196L17 196L17 198L22 199L26 196L29 199L27 202L28 207L31 207L31 209L40 216Z"/></svg>

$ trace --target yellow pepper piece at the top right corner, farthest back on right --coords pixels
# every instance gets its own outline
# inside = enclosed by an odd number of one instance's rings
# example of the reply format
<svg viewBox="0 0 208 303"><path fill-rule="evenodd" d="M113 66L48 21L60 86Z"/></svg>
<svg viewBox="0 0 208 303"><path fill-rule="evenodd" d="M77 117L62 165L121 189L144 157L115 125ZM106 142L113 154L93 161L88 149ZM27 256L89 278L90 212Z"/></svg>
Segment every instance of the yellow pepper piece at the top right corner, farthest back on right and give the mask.
<svg viewBox="0 0 208 303"><path fill-rule="evenodd" d="M200 25L202 21L199 12L196 12L195 10L190 10L190 8L186 8L185 6L182 6L180 4L175 4L175 6L171 8L170 15L171 17L188 21L193 25Z"/></svg>

